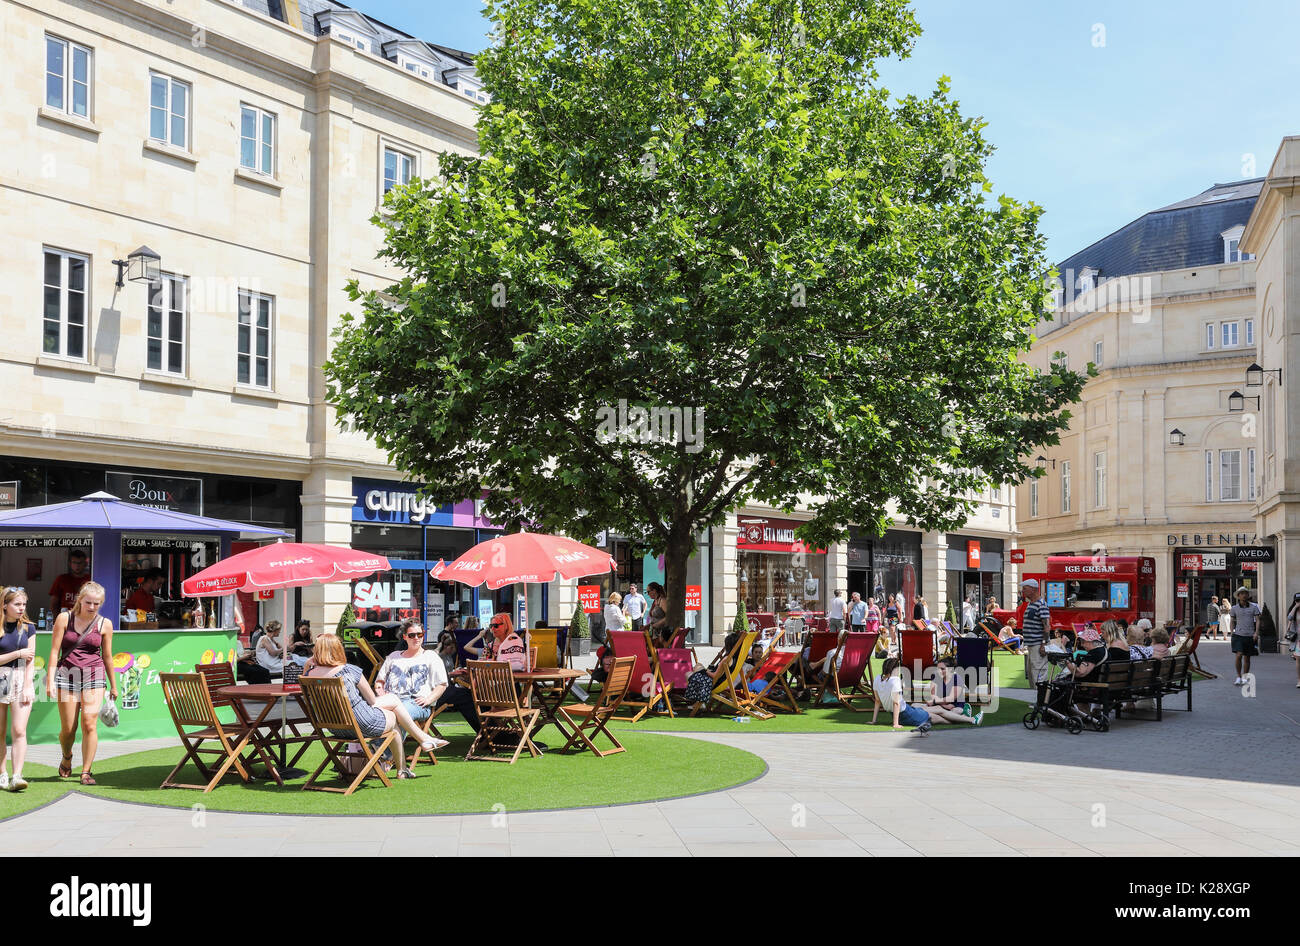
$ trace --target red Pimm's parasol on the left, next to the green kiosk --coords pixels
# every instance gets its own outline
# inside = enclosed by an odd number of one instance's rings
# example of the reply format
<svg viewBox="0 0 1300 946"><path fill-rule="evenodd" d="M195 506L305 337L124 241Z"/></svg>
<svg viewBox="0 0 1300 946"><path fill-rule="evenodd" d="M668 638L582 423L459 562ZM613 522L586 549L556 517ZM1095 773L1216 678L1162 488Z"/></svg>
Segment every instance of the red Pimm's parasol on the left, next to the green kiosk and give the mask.
<svg viewBox="0 0 1300 946"><path fill-rule="evenodd" d="M191 598L217 598L235 591L266 591L317 582L351 581L376 572L386 572L389 567L389 560L382 555L359 552L347 546L276 542L208 565L181 582L181 591ZM285 621L280 633L283 660L287 661L289 595L285 595ZM285 725L285 700L280 703L280 724ZM298 771L285 765L283 745L280 747L280 767L283 777L296 777Z"/></svg>

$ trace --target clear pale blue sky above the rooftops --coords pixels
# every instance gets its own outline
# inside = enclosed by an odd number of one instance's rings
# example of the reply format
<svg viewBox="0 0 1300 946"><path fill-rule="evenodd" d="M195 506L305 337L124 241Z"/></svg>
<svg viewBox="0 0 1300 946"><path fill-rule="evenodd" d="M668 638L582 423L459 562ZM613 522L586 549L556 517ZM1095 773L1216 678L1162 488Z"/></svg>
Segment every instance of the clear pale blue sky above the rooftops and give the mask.
<svg viewBox="0 0 1300 946"><path fill-rule="evenodd" d="M352 5L434 43L486 45L480 0ZM1216 182L1262 177L1282 138L1300 134L1294 0L915 9L924 32L910 60L881 64L887 87L923 94L952 78L963 113L989 122L996 190L1045 209L1053 262Z"/></svg>

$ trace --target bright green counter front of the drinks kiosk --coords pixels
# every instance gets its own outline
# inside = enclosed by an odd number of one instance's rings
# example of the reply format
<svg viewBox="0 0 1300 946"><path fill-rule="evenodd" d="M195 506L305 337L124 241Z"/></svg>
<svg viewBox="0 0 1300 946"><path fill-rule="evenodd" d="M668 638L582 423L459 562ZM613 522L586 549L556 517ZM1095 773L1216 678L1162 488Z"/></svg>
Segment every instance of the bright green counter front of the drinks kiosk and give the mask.
<svg viewBox="0 0 1300 946"><path fill-rule="evenodd" d="M234 660L239 647L237 628L170 628L166 630L113 630L113 672L117 673L117 708L121 722L99 725L99 738L150 739L176 735L176 725L162 700L162 673L194 673L195 664ZM27 724L32 745L58 742L58 707L46 695L49 634L36 635L36 706ZM78 735L78 739L81 737Z"/></svg>

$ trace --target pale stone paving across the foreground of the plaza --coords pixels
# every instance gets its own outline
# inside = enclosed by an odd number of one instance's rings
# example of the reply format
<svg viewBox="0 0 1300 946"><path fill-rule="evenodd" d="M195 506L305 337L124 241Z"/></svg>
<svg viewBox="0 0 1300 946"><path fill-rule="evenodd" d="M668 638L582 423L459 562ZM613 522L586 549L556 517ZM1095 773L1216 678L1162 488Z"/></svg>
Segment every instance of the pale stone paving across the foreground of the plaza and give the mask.
<svg viewBox="0 0 1300 946"><path fill-rule="evenodd" d="M5 850L53 855L1295 855L1300 690L1290 658L1232 686L1227 645L1201 645L1218 680L1193 712L1106 734L1019 725L907 734L708 738L760 755L763 777L650 804L429 817L291 817L124 804L73 793L4 824ZM1225 678L1226 676L1226 678ZM1017 694L1027 697L1027 694ZM168 741L104 743L107 752ZM56 764L57 748L32 750ZM526 764L521 763L521 764ZM437 777L430 774L426 777ZM400 784L393 790L400 791ZM202 797L194 793L195 802ZM376 793L376 804L382 806ZM1096 808L1101 804L1104 808ZM500 819L497 819L498 823ZM1104 824L1102 824L1104 821Z"/></svg>

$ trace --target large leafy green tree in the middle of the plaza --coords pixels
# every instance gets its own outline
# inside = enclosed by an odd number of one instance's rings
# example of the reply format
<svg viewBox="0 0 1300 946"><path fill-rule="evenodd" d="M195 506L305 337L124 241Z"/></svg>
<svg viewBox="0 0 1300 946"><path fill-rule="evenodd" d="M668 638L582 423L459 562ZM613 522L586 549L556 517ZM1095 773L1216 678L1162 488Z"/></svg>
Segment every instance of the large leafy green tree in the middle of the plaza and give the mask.
<svg viewBox="0 0 1300 946"><path fill-rule="evenodd" d="M330 398L439 500L666 554L806 504L958 526L1019 482L1083 377L1017 360L1040 211L992 198L983 123L875 62L900 0L499 0L480 155L389 195L407 275L352 286ZM620 402L628 405L620 411ZM634 408L658 413L641 416ZM686 411L682 428L655 417Z"/></svg>

